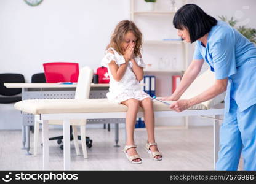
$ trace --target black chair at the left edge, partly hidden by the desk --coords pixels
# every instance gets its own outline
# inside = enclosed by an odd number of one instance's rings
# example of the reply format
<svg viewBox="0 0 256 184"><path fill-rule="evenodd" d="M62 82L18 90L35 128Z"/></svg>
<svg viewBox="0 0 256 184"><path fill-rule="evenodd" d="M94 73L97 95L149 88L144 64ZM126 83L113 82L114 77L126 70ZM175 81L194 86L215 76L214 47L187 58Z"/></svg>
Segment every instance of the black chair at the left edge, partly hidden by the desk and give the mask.
<svg viewBox="0 0 256 184"><path fill-rule="evenodd" d="M0 94L12 96L22 93L22 88L6 88L4 83L25 83L25 79L22 74L0 74Z"/></svg>

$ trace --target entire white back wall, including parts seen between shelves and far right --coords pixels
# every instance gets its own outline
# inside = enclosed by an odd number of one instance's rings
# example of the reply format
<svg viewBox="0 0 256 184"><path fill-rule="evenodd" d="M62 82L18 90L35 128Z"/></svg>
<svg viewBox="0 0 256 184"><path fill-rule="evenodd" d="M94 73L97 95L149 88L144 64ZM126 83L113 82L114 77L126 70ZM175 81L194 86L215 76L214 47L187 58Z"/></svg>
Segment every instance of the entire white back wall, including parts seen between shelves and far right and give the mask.
<svg viewBox="0 0 256 184"><path fill-rule="evenodd" d="M241 24L256 28L254 0L188 2L198 4L217 19L217 15L234 16ZM143 3L140 2L142 9ZM180 6L180 1L177 0L177 4ZM169 0L157 2L158 9L167 10L169 5ZM120 20L130 18L129 9L129 0L44 0L36 7L30 7L21 0L0 0L0 73L22 73L26 82L30 82L31 75L43 72L42 63L52 61L78 62L80 67L87 65L95 70L114 26ZM158 21L159 24L164 23L166 18ZM145 25L148 21L140 23ZM146 32L144 28L142 31L145 38L176 36L171 19L169 25L171 31L163 33L164 36L159 36L158 31ZM193 45L190 48L191 58ZM161 50L156 49L156 54L161 57ZM174 54L179 57L180 48L170 49L169 55ZM150 54L144 55L145 62L149 62ZM158 76L158 96L170 94L170 79L170 74ZM12 105L0 104L0 129L20 128L20 123L6 123L7 118L11 117L10 122L16 122L19 117L19 112L12 109ZM201 125L198 120L194 123Z"/></svg>

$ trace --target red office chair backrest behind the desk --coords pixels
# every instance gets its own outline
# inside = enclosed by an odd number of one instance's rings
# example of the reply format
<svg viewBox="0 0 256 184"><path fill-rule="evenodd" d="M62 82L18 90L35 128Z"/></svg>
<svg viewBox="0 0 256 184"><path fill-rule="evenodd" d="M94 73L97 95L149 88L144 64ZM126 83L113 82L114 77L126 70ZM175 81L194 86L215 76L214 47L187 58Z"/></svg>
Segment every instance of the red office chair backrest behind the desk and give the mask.
<svg viewBox="0 0 256 184"><path fill-rule="evenodd" d="M78 82L78 63L44 63L43 66L47 83Z"/></svg>

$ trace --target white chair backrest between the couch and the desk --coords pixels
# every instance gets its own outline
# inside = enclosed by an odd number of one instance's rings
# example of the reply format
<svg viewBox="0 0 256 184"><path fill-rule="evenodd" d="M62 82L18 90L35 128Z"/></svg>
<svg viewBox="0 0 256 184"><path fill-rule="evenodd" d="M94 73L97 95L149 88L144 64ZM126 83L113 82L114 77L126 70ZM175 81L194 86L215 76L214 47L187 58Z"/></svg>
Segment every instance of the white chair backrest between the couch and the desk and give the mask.
<svg viewBox="0 0 256 184"><path fill-rule="evenodd" d="M94 71L89 67L82 67L79 72L78 84L76 85L76 93L74 99L87 99L90 95L90 85Z"/></svg>

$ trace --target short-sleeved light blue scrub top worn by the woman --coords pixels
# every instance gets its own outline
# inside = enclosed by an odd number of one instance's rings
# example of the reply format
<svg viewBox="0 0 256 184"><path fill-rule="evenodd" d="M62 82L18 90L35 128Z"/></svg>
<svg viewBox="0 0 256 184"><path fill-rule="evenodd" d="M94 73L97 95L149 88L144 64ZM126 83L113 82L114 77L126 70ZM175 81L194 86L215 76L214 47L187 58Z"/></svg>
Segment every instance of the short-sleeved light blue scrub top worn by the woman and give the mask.
<svg viewBox="0 0 256 184"><path fill-rule="evenodd" d="M204 59L216 79L228 78L226 112L231 98L240 112L256 104L256 47L236 29L218 21L210 29L206 47L201 41L196 42L193 59Z"/></svg>

